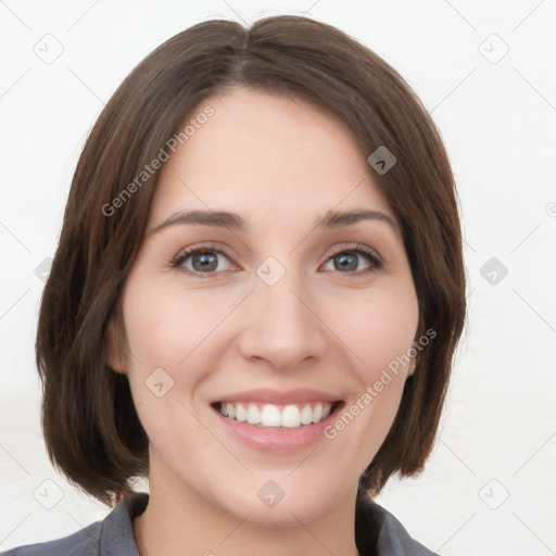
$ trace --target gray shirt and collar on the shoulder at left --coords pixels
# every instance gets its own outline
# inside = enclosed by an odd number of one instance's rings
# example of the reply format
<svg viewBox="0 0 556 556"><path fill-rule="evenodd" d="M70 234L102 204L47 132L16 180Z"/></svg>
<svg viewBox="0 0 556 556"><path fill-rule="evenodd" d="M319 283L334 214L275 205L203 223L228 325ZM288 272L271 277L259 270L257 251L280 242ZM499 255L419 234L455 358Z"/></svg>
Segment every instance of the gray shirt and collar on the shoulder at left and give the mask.
<svg viewBox="0 0 556 556"><path fill-rule="evenodd" d="M148 502L147 493L136 492L116 504L102 521L63 539L10 548L0 556L139 556L132 520Z"/></svg>

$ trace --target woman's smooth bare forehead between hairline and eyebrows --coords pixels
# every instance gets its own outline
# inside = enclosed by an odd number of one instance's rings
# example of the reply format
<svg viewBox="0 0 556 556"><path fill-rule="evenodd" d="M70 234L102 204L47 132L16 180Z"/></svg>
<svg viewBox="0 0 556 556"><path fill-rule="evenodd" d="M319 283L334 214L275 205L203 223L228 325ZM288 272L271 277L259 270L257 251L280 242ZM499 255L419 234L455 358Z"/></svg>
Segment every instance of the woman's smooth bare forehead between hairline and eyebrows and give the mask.
<svg viewBox="0 0 556 556"><path fill-rule="evenodd" d="M211 117L199 117L210 106ZM200 103L164 163L151 220L176 210L314 219L330 208L395 216L355 137L337 116L280 93L236 88Z"/></svg>

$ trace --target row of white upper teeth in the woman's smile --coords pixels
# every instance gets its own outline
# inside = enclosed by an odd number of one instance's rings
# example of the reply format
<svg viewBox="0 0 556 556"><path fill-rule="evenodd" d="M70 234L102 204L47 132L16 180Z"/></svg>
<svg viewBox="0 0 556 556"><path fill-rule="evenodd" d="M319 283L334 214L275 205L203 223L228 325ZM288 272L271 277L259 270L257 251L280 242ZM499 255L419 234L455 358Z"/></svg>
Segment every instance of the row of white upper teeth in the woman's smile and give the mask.
<svg viewBox="0 0 556 556"><path fill-rule="evenodd" d="M303 406L264 404L262 408L256 404L220 404L220 413L225 417L263 427L299 427L300 425L319 422L330 415L331 408L332 404L326 402Z"/></svg>

